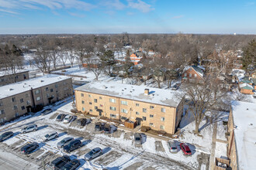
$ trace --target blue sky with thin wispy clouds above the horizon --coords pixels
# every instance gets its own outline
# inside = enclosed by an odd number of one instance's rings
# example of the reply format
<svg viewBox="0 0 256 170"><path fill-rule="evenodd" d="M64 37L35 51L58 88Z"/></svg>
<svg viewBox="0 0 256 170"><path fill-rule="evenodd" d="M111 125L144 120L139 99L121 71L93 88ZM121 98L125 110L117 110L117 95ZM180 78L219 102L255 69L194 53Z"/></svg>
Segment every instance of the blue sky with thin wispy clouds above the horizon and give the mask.
<svg viewBox="0 0 256 170"><path fill-rule="evenodd" d="M256 34L256 0L0 0L0 34Z"/></svg>

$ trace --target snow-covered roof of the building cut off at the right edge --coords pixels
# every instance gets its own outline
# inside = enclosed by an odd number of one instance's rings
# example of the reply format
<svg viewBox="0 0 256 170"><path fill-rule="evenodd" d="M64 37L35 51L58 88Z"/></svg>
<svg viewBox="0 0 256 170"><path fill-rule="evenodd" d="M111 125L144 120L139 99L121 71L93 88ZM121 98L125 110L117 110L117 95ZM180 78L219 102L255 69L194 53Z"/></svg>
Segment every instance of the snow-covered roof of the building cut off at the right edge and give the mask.
<svg viewBox="0 0 256 170"><path fill-rule="evenodd" d="M231 107L239 169L255 169L256 104L233 101Z"/></svg>

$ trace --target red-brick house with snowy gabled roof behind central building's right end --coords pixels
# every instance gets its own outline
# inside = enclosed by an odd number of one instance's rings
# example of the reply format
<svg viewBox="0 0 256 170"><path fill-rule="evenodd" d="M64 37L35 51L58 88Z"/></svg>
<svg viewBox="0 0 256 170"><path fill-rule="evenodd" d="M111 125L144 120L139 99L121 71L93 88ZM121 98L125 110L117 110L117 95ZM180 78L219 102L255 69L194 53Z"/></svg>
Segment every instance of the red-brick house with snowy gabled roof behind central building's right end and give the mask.
<svg viewBox="0 0 256 170"><path fill-rule="evenodd" d="M186 66L182 73L182 82L199 82L203 81L204 70L199 66Z"/></svg>

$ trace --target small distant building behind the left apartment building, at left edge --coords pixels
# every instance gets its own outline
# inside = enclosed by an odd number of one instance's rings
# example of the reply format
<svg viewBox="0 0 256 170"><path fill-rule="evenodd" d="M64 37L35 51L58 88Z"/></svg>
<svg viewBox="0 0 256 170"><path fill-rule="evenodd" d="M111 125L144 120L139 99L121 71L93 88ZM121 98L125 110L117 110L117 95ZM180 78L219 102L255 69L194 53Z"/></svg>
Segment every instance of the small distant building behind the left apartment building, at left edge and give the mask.
<svg viewBox="0 0 256 170"><path fill-rule="evenodd" d="M11 70L0 71L0 86L4 86L9 83L16 83L29 79L29 71L16 70L16 73L12 73Z"/></svg>

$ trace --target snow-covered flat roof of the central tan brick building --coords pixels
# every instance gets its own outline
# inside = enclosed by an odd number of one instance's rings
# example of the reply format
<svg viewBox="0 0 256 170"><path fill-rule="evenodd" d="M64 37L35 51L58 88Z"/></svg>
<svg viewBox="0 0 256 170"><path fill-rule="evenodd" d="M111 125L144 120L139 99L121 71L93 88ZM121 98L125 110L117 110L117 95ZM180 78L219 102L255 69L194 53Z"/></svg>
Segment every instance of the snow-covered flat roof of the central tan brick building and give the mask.
<svg viewBox="0 0 256 170"><path fill-rule="evenodd" d="M149 89L149 95L144 94L145 88ZM151 104L161 104L169 107L177 107L183 96L183 94L178 91L100 81L85 84L75 90L138 100Z"/></svg>

